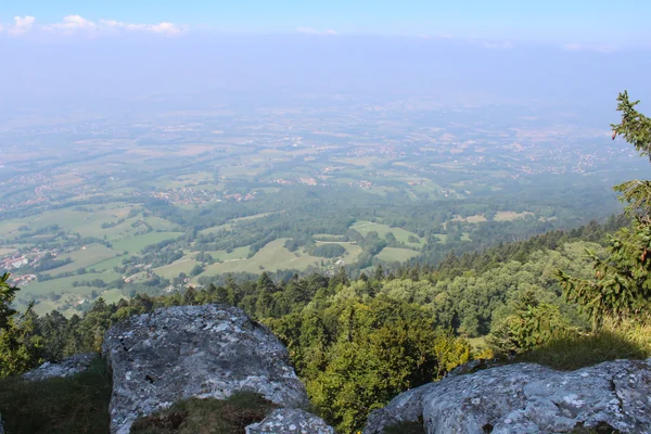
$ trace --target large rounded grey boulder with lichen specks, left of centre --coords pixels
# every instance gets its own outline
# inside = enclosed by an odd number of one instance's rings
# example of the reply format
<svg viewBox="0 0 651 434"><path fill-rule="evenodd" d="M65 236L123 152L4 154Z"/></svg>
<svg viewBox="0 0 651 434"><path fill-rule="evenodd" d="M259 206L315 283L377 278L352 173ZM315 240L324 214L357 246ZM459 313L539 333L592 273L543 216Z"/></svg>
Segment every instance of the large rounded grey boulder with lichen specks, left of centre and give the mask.
<svg viewBox="0 0 651 434"><path fill-rule="evenodd" d="M180 306L131 317L106 332L102 353L113 369L111 432L189 397L259 393L281 407L307 404L284 346L242 310Z"/></svg>

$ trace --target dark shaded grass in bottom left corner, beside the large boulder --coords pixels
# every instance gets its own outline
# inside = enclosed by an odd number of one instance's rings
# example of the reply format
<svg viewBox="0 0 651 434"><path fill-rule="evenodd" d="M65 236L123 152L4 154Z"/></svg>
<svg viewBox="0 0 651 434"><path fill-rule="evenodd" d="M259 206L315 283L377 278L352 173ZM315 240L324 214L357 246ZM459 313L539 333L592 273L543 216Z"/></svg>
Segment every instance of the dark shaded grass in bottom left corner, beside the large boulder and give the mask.
<svg viewBox="0 0 651 434"><path fill-rule="evenodd" d="M111 374L99 359L66 379L0 381L0 412L8 434L108 433Z"/></svg>

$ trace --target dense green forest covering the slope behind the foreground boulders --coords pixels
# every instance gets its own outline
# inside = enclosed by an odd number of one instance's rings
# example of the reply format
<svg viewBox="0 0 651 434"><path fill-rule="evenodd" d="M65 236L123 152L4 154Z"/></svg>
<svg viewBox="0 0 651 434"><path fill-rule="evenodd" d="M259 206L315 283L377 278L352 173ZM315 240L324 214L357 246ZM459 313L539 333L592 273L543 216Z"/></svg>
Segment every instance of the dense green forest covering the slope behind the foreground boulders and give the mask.
<svg viewBox="0 0 651 434"><path fill-rule="evenodd" d="M21 333L14 345L23 352L3 359L3 374L99 350L107 328L130 315L164 306L229 304L282 340L319 412L341 432L353 432L370 410L399 392L438 379L471 358L492 357L499 348L473 345L468 337L495 331L523 303L545 303L577 330L588 330L588 318L563 299L554 270L589 277L585 250L604 255L605 235L628 221L617 216L484 252L450 254L435 268L378 267L354 280L344 268L333 277L288 280L267 273L255 280L228 276L201 291L189 286L167 296L139 294L117 304L99 299L85 315L69 319L58 311L42 317L27 312L15 324ZM501 346L508 345L513 343Z"/></svg>

